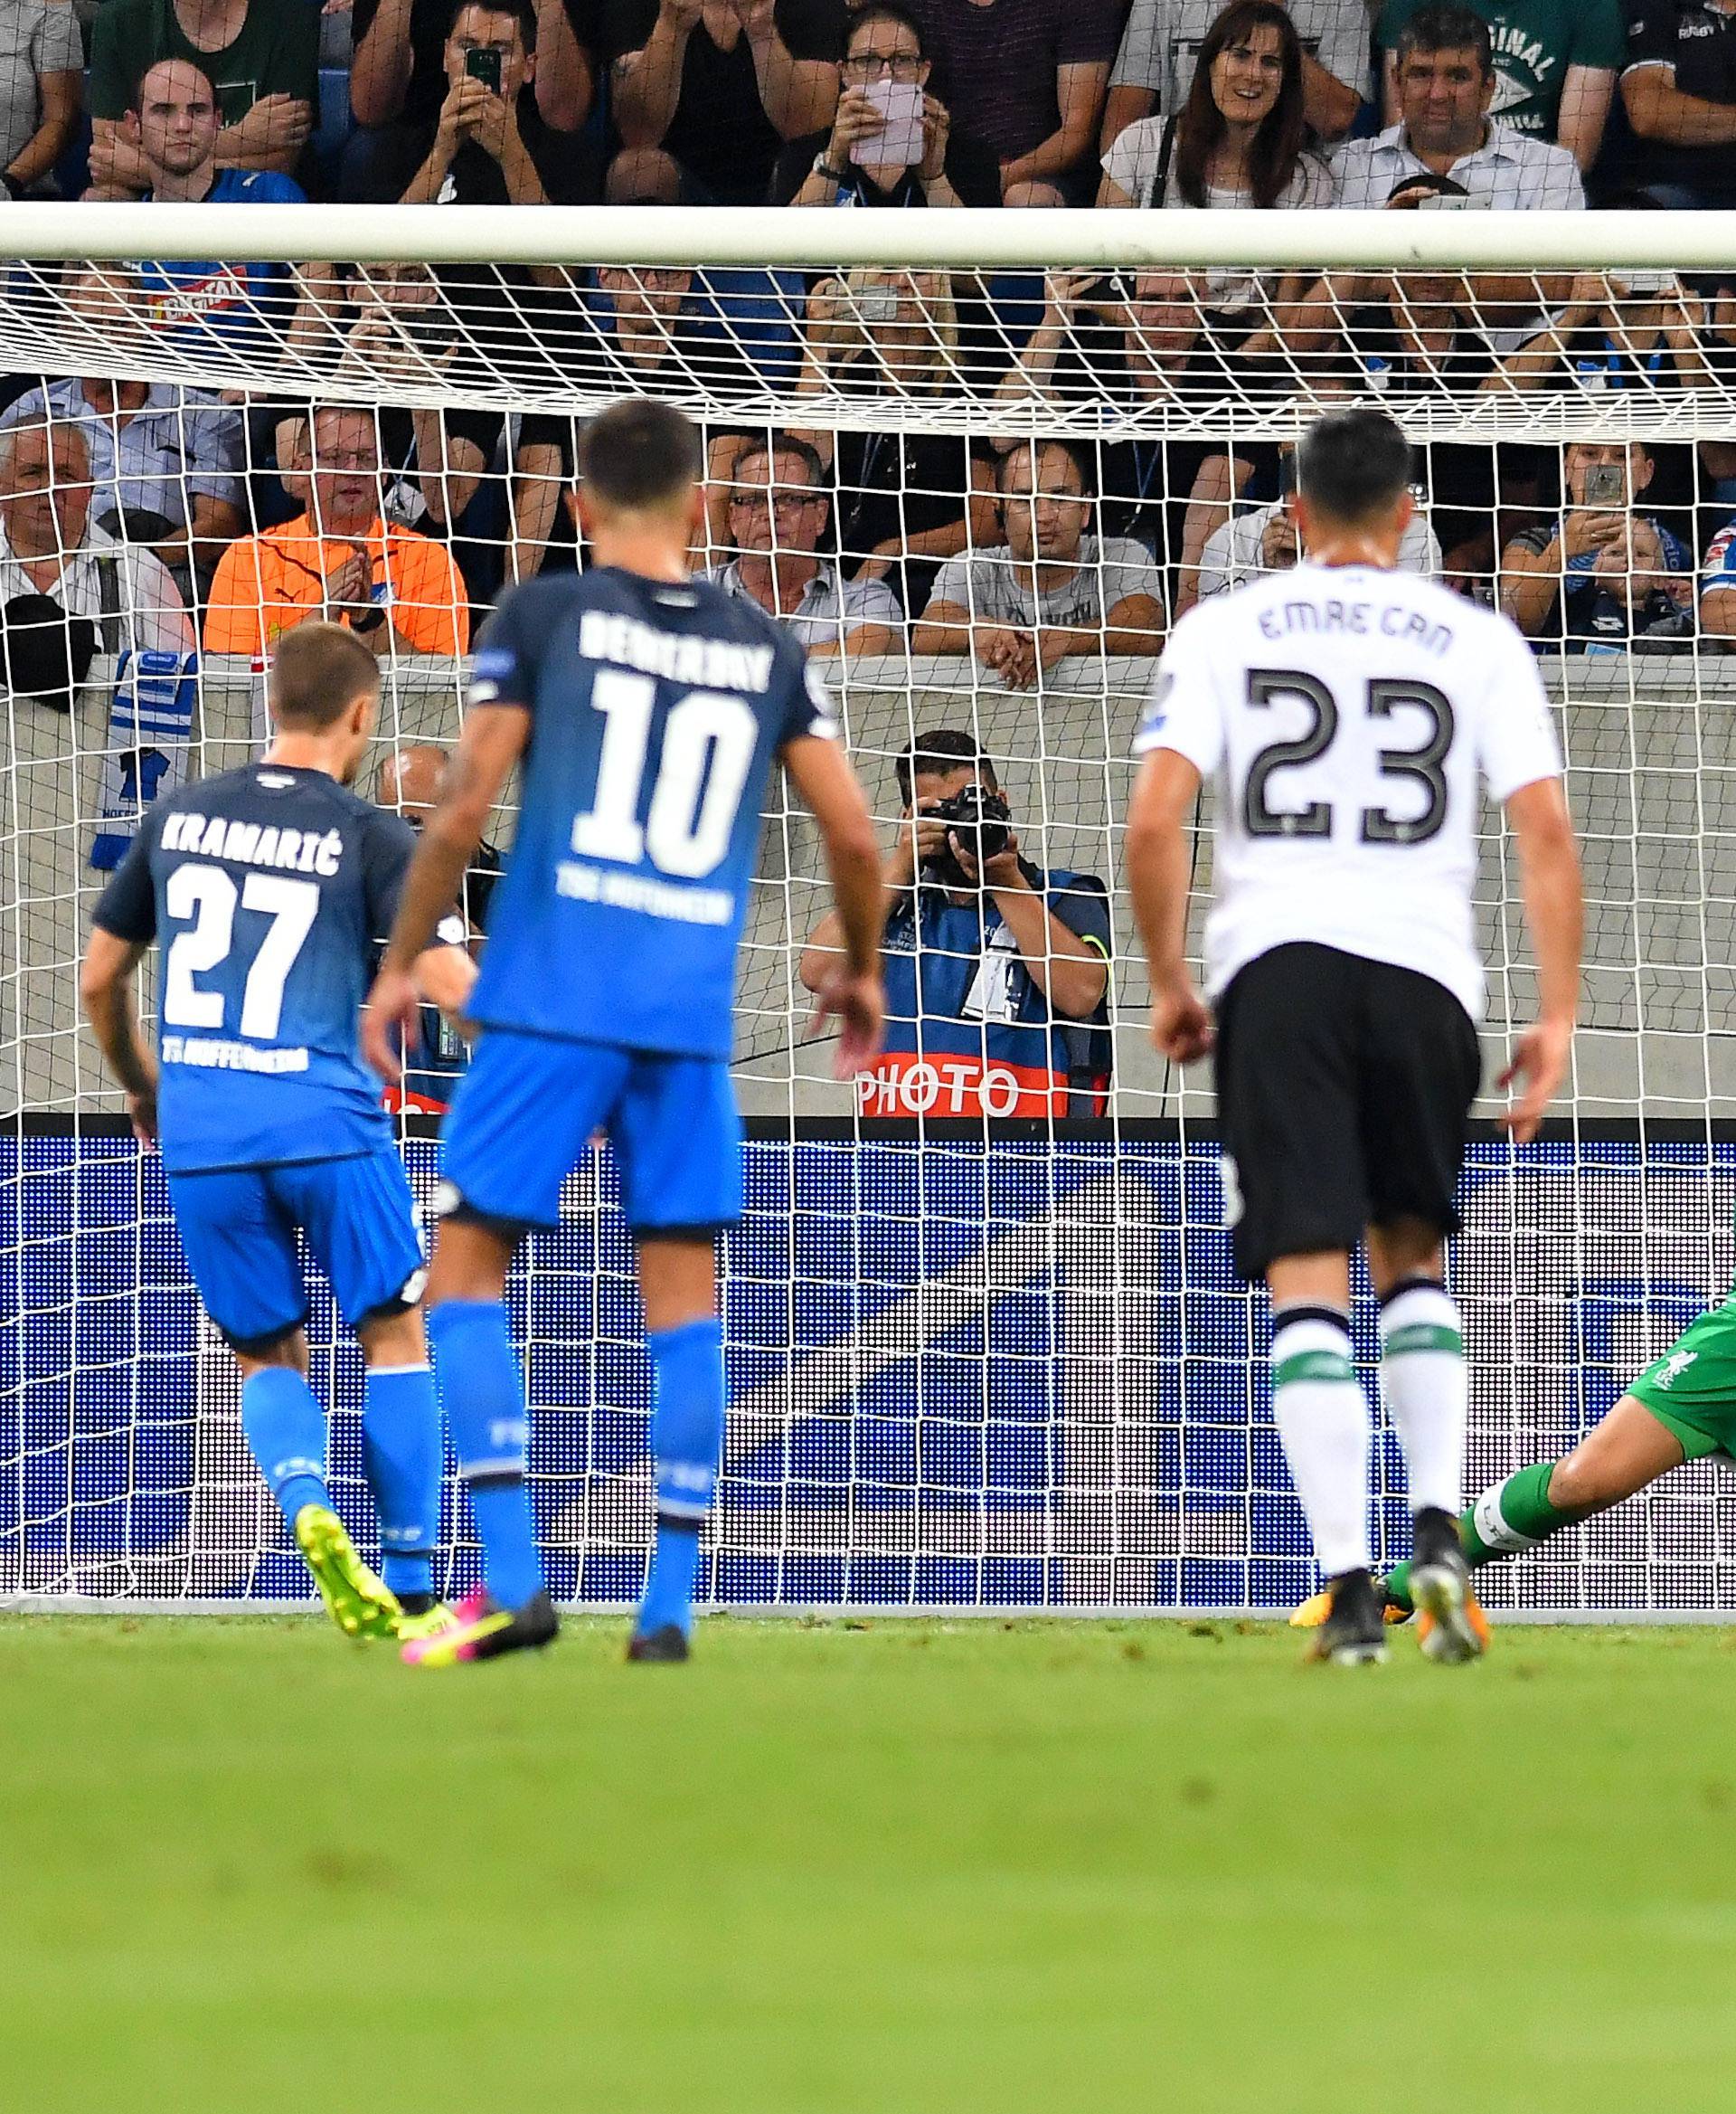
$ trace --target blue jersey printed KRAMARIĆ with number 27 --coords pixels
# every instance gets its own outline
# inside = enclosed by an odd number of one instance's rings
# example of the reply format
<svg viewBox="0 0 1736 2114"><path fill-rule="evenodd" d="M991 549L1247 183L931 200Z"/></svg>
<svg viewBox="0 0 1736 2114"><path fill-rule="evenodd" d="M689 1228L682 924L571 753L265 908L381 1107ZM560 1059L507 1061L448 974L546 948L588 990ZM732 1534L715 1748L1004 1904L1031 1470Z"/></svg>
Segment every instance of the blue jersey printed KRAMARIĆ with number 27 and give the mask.
<svg viewBox="0 0 1736 2114"><path fill-rule="evenodd" d="M156 801L95 922L161 941L158 1129L171 1173L391 1144L357 1017L416 848L323 772L249 763Z"/></svg>

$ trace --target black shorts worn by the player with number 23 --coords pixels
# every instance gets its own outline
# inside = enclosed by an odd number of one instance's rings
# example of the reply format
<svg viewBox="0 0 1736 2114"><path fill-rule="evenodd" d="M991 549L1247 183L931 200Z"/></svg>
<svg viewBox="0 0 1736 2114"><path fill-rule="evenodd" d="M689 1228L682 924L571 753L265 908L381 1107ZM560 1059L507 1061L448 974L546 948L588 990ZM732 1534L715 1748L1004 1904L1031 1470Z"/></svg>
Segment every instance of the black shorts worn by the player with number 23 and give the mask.
<svg viewBox="0 0 1736 2114"><path fill-rule="evenodd" d="M1316 945L1248 962L1216 1042L1238 1271L1261 1279L1400 1218L1457 1232L1480 1076L1470 1015L1434 977Z"/></svg>

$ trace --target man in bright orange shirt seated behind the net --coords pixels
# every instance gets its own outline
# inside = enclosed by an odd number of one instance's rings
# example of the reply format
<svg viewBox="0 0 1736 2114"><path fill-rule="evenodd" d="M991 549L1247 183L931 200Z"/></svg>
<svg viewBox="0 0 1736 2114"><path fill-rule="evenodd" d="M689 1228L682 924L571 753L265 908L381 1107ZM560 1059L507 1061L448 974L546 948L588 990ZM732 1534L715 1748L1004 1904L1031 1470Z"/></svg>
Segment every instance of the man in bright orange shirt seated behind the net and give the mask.
<svg viewBox="0 0 1736 2114"><path fill-rule="evenodd" d="M218 562L207 653L268 653L306 617L346 624L374 653L444 653L471 643L471 611L444 543L380 518L380 435L370 410L313 416L313 505L241 537Z"/></svg>

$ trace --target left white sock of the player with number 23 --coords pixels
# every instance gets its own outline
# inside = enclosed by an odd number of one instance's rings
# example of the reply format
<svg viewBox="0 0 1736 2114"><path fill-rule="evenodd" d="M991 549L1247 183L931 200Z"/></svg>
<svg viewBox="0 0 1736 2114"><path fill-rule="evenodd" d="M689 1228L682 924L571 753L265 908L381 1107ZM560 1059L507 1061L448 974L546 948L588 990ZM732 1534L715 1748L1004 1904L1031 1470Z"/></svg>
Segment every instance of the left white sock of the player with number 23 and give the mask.
<svg viewBox="0 0 1736 2114"><path fill-rule="evenodd" d="M1371 1418L1345 1315L1290 1306L1271 1317L1271 1414L1320 1569L1328 1579L1366 1571Z"/></svg>

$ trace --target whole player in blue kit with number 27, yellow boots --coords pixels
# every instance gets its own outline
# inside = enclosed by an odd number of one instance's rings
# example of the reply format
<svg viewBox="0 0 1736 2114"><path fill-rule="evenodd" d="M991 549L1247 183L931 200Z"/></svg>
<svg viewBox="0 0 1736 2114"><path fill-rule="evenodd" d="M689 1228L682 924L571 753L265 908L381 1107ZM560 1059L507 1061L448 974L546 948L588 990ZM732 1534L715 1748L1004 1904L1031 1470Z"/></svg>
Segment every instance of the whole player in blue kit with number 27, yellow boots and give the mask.
<svg viewBox="0 0 1736 2114"><path fill-rule="evenodd" d="M95 909L82 998L156 1139L194 1283L234 1351L241 1423L296 1545L348 1636L450 1619L433 1600L439 1410L422 1334L422 1247L391 1123L357 1046L357 1006L416 835L348 791L380 672L336 624L279 645L277 738L249 763L158 801ZM416 962L448 1008L473 964L456 917ZM158 1055L133 970L163 945ZM308 1387L304 1232L361 1338L363 1463L384 1577L357 1556L325 1482Z"/></svg>

